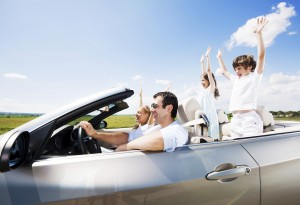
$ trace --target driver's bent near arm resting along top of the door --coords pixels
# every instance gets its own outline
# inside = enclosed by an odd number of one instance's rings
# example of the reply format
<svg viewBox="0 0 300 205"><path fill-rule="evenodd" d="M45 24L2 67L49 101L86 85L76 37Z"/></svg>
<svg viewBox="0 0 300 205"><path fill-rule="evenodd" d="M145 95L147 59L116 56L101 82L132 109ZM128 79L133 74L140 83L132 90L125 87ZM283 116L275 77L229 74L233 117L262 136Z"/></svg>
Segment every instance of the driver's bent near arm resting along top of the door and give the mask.
<svg viewBox="0 0 300 205"><path fill-rule="evenodd" d="M140 138L130 141L127 144L122 144L117 147L116 151L126 150L148 150L162 151L164 150L164 140L160 130L144 135Z"/></svg>

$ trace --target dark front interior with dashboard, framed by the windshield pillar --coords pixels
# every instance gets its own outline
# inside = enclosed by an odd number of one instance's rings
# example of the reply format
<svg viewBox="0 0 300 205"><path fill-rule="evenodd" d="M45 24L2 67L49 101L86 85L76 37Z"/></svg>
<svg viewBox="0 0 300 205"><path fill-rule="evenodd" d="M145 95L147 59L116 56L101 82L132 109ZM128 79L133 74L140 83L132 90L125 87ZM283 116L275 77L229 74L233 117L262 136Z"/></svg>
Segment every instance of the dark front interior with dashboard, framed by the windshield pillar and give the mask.
<svg viewBox="0 0 300 205"><path fill-rule="evenodd" d="M114 151L115 147L101 143L85 134L82 128L79 127L79 122L88 121L95 129L105 129L107 122L105 118L128 108L125 101L116 101L104 105L85 116L79 117L67 124L55 129L50 139L42 152L41 158L92 154Z"/></svg>

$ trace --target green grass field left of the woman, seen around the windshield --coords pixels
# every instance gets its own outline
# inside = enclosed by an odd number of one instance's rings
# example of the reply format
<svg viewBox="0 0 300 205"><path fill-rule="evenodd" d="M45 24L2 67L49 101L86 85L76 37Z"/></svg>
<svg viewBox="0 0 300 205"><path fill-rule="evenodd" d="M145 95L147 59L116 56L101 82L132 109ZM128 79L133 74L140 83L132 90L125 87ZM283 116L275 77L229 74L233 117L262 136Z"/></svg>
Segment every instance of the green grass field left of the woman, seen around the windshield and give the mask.
<svg viewBox="0 0 300 205"><path fill-rule="evenodd" d="M35 118L36 118L35 116L29 116L29 117L1 116L0 135ZM88 117L82 117L78 121L72 124L78 123L81 120L88 120ZM135 116L134 115L113 115L105 119L105 121L107 122L107 128L133 127L135 125Z"/></svg>

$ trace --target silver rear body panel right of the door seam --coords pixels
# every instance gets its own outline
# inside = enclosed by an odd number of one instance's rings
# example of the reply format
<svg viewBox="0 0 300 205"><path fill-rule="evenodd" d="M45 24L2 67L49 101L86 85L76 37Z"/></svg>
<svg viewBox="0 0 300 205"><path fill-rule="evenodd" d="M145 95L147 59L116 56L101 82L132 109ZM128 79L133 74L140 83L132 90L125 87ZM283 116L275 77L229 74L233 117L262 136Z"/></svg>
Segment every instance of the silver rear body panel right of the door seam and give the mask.
<svg viewBox="0 0 300 205"><path fill-rule="evenodd" d="M261 172L261 204L300 204L300 132L243 140Z"/></svg>

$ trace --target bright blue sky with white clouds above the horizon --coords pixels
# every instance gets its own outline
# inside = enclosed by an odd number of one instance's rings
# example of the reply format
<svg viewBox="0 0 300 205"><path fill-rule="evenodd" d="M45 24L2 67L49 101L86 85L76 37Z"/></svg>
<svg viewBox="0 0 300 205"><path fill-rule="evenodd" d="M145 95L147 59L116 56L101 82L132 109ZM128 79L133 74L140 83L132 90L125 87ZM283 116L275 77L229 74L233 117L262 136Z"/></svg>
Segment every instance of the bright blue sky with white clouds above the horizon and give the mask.
<svg viewBox="0 0 300 205"><path fill-rule="evenodd" d="M0 0L0 111L44 113L115 86L144 102L172 83L179 100L199 90L199 59L223 49L229 71L256 56L252 23L266 16L267 46L259 105L300 110L300 3L240 0ZM254 41L253 41L254 40ZM217 75L227 109L230 82Z"/></svg>

